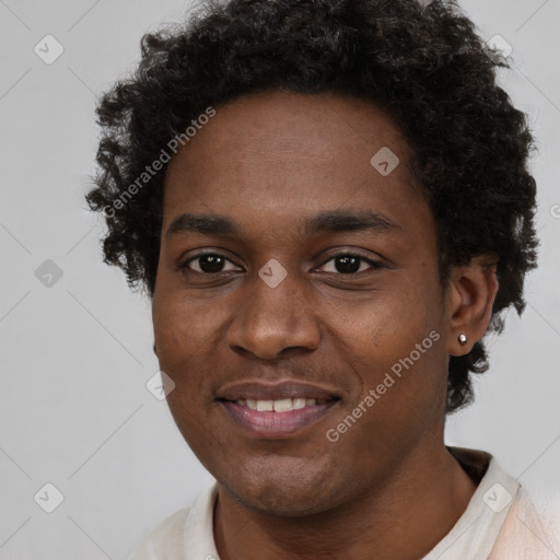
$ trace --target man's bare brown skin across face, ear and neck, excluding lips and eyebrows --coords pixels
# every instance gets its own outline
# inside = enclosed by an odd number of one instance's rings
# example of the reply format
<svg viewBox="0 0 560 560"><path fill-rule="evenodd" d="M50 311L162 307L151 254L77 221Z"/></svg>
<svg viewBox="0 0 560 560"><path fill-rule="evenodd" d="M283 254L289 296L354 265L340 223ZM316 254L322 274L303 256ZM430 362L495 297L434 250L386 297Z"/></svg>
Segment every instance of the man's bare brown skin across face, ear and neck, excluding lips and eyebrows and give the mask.
<svg viewBox="0 0 560 560"><path fill-rule="evenodd" d="M370 163L383 147L400 160L387 176ZM481 256L442 288L435 224L410 154L366 100L271 91L218 107L170 163L155 351L176 384L167 400L177 427L218 480L222 560L417 560L472 497L476 483L444 445L447 364L485 334L495 270ZM370 210L395 228L303 232L329 210ZM167 235L186 212L222 214L241 231ZM180 268L208 249L225 257L222 267L199 258ZM361 260L342 273L335 257L343 252L382 266ZM276 288L258 276L272 258L288 272ZM330 442L327 430L431 331L439 340ZM336 387L341 400L276 441L248 436L215 400L232 381L285 377Z"/></svg>

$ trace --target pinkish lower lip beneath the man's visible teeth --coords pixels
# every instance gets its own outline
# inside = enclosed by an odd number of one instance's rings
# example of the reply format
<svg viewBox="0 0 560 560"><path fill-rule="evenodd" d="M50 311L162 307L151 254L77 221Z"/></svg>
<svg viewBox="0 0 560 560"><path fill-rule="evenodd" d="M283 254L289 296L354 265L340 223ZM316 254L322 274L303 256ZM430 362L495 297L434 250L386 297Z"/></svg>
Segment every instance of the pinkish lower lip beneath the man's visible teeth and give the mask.
<svg viewBox="0 0 560 560"><path fill-rule="evenodd" d="M338 402L329 400L323 405L273 412L253 410L231 400L220 400L230 417L240 425L259 438L285 438L318 422Z"/></svg>

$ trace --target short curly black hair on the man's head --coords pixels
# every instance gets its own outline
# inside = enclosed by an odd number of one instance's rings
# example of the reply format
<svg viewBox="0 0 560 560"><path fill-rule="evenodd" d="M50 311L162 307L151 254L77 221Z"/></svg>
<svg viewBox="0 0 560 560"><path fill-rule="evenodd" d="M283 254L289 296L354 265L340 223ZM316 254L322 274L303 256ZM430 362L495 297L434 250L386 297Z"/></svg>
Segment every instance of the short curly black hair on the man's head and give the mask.
<svg viewBox="0 0 560 560"><path fill-rule="evenodd" d="M489 331L502 330L511 305L521 315L538 244L527 170L535 141L497 84L508 60L456 2L211 0L184 26L144 35L141 51L136 72L97 108L98 173L86 195L106 218L104 260L132 289L153 296L166 163L144 175L165 161L174 137L208 107L250 92L331 92L371 100L410 142L410 167L436 223L442 285L453 265L494 254L500 288ZM447 413L472 400L469 372L486 370L482 341L451 357Z"/></svg>

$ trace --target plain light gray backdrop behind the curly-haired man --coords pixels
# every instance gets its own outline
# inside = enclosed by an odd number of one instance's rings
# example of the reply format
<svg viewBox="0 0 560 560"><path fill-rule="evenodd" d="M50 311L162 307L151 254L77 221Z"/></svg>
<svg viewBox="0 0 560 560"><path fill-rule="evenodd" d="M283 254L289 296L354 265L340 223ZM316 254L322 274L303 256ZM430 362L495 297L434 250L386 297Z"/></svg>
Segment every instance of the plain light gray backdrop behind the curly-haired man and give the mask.
<svg viewBox="0 0 560 560"><path fill-rule="evenodd" d="M0 560L125 558L212 481L145 388L159 369L150 305L102 262L101 222L83 200L96 95L132 68L147 30L188 5L0 0ZM558 504L560 1L462 5L485 40L499 34L513 47L500 81L537 136L541 248L526 313L511 312L490 342L491 371L448 421L447 443L491 451ZM65 49L51 65L34 52L47 34ZM47 259L62 271L50 287L35 276ZM33 498L47 482L65 498L50 514Z"/></svg>

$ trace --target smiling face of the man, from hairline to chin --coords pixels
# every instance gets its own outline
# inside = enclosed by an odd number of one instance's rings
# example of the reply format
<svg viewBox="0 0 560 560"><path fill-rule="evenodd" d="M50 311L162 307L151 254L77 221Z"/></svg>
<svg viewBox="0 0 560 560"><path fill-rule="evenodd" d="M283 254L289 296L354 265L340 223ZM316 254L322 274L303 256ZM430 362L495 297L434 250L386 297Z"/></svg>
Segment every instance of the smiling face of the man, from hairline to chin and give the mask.
<svg viewBox="0 0 560 560"><path fill-rule="evenodd" d="M372 164L386 148L399 163ZM447 325L409 159L369 101L267 92L170 163L156 353L185 440L248 508L327 511L441 445Z"/></svg>

